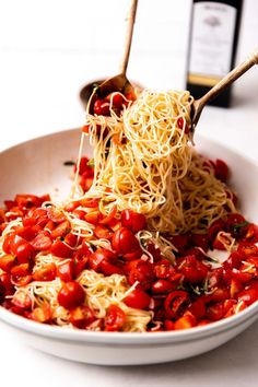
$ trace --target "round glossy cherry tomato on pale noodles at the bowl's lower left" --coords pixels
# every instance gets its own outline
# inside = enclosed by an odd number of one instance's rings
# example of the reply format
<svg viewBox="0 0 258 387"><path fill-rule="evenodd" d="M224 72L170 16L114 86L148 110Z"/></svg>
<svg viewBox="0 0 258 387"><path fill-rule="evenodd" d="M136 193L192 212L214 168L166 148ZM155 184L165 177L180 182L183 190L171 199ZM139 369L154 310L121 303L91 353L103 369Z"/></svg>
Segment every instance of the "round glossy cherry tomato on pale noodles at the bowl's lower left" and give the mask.
<svg viewBox="0 0 258 387"><path fill-rule="evenodd" d="M85 292L79 282L69 281L62 285L57 298L66 309L72 309L84 303Z"/></svg>

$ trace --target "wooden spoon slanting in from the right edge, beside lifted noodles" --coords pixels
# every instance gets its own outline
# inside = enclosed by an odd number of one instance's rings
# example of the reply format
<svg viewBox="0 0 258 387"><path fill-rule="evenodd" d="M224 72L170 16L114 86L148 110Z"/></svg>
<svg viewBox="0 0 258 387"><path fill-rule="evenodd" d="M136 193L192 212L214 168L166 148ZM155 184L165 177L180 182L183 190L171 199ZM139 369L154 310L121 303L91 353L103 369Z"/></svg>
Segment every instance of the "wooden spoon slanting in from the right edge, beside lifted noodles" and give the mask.
<svg viewBox="0 0 258 387"><path fill-rule="evenodd" d="M230 84L236 81L254 64L258 64L258 50L254 51L244 62L235 67L227 75L218 82L207 94L201 98L196 99L191 106L191 133L194 134L197 122L199 121L203 107L213 99L216 95L222 93Z"/></svg>

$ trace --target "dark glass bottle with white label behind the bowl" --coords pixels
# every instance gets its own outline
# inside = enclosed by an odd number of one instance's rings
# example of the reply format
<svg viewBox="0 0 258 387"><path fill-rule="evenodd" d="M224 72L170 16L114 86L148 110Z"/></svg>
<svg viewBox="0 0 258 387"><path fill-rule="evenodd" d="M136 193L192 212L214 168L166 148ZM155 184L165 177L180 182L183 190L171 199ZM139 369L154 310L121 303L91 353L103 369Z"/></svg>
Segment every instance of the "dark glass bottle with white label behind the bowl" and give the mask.
<svg viewBox="0 0 258 387"><path fill-rule="evenodd" d="M198 99L232 70L239 35L243 0L194 0L187 90ZM230 106L232 86L211 105Z"/></svg>

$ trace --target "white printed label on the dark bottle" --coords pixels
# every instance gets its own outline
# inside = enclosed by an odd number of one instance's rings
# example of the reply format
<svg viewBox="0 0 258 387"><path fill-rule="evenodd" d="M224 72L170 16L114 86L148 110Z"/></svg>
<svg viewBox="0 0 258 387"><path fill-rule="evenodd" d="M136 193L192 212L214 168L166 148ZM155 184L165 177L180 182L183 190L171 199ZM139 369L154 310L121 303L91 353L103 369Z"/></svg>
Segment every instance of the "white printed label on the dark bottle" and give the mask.
<svg viewBox="0 0 258 387"><path fill-rule="evenodd" d="M195 3L189 81L196 78L194 83L199 83L198 75L204 75L212 85L231 70L235 23L234 7L213 1Z"/></svg>

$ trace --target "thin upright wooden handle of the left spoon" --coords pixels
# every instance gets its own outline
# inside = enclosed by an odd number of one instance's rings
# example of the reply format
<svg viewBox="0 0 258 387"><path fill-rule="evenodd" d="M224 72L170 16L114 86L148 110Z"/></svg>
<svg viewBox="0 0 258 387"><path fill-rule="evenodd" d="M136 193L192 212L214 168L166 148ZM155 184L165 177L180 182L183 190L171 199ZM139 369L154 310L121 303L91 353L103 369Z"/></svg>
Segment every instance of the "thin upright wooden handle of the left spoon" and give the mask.
<svg viewBox="0 0 258 387"><path fill-rule="evenodd" d="M132 40L133 26L134 26L134 21L137 15L137 5L138 5L138 0L131 0L130 10L127 16L127 34L125 40L125 49L124 49L121 64L120 64L120 72L124 75L127 72L127 64L128 64L130 50L131 50L131 40Z"/></svg>

